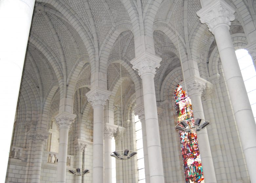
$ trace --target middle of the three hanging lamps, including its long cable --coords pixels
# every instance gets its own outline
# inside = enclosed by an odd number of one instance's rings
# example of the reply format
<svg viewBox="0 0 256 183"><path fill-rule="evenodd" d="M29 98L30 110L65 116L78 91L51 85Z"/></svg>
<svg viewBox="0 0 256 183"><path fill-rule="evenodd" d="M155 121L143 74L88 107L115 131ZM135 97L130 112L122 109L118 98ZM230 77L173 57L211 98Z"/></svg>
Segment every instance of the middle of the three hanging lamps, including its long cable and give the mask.
<svg viewBox="0 0 256 183"><path fill-rule="evenodd" d="M119 60L121 60L121 52L120 52L120 34L119 34L119 37L118 37L118 43L119 43ZM123 101L122 101L122 75L121 75L121 63L120 63L120 88L121 88L121 118L122 118L122 127L123 127ZM121 136L122 136L122 149L124 147L123 145L123 135L124 135L124 131L123 130L119 130L119 128L117 128L117 130L121 133ZM127 138L127 141L128 138ZM137 152L135 151L132 151L132 150L128 150L128 149L125 149L125 150L118 150L118 151L114 151L111 153L110 156L114 157L114 158L117 158L117 159L130 159L132 157L134 157L135 155L137 154Z"/></svg>

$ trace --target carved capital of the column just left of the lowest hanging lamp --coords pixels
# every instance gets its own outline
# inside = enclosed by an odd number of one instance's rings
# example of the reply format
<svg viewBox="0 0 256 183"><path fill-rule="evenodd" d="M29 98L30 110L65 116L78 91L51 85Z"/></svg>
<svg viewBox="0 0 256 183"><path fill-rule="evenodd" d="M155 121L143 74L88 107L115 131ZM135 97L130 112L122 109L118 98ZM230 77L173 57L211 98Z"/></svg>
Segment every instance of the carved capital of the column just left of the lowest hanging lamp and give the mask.
<svg viewBox="0 0 256 183"><path fill-rule="evenodd" d="M70 128L71 124L75 122L75 114L68 114L68 113L60 113L58 114L55 119L56 119L56 125L58 129L61 128Z"/></svg>

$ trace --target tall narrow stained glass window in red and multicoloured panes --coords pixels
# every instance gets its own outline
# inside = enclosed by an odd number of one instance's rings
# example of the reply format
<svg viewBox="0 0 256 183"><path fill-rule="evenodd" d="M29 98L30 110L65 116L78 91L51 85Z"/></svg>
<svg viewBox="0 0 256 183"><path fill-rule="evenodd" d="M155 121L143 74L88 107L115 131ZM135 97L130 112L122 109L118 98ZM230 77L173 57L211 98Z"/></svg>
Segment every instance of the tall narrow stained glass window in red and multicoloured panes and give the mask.
<svg viewBox="0 0 256 183"><path fill-rule="evenodd" d="M175 88L174 99L178 123L186 119L193 119L190 98L179 84ZM180 131L180 140L186 183L204 183L197 134Z"/></svg>

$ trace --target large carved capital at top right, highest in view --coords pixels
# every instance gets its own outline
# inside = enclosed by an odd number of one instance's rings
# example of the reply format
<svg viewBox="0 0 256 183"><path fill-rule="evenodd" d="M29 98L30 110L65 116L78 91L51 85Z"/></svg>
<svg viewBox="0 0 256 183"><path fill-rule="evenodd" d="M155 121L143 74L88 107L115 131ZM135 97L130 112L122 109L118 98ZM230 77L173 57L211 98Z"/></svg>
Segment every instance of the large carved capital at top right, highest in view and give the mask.
<svg viewBox="0 0 256 183"><path fill-rule="evenodd" d="M214 34L214 27L220 24L231 25L231 21L235 20L235 10L224 0L212 1L208 6L200 9L197 15L200 22L206 24L209 31Z"/></svg>

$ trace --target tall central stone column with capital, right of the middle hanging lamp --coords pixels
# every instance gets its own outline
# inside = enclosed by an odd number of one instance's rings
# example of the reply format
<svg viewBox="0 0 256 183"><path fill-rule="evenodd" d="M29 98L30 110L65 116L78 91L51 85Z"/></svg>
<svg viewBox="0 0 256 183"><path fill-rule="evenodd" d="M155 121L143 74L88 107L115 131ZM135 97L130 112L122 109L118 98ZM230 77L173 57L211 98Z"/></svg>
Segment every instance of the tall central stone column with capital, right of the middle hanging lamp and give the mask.
<svg viewBox="0 0 256 183"><path fill-rule="evenodd" d="M143 101L148 147L150 182L163 183L163 164L157 116L157 102L154 77L156 68L160 67L161 58L147 52L131 60L134 70L142 79Z"/></svg>

